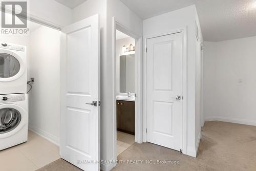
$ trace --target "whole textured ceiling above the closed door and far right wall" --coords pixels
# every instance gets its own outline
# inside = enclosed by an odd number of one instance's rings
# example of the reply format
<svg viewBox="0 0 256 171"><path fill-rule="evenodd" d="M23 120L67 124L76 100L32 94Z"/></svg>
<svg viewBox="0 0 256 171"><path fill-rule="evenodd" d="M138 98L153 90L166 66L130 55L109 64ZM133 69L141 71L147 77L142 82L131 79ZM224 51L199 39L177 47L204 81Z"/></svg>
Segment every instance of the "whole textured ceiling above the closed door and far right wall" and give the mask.
<svg viewBox="0 0 256 171"><path fill-rule="evenodd" d="M196 4L206 41L256 36L256 0L120 0L142 19Z"/></svg>

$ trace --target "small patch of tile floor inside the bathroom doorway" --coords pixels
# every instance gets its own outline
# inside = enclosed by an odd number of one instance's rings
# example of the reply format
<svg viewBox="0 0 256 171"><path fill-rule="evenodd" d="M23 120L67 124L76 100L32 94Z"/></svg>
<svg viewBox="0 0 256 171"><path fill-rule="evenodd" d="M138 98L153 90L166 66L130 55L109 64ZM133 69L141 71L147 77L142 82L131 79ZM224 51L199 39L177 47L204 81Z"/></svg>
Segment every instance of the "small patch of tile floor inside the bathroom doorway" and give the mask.
<svg viewBox="0 0 256 171"><path fill-rule="evenodd" d="M135 142L134 135L117 131L117 156L129 148Z"/></svg>

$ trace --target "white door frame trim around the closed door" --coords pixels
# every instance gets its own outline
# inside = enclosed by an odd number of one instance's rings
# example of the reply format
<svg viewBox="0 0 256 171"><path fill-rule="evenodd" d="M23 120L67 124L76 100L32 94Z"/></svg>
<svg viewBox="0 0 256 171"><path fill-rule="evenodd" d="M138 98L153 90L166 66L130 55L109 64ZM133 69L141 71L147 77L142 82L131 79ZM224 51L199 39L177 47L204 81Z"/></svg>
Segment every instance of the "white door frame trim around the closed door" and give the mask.
<svg viewBox="0 0 256 171"><path fill-rule="evenodd" d="M182 153L187 155L187 27L144 36L143 53L143 142L146 142L146 48L147 39L182 33Z"/></svg>

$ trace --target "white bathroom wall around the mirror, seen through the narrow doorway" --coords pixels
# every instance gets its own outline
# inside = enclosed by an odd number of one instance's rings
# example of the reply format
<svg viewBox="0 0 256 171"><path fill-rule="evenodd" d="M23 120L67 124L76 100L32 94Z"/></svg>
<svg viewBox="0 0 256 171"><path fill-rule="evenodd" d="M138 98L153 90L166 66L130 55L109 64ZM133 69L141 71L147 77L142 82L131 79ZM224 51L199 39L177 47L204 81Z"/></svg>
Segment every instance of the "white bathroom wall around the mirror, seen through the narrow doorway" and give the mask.
<svg viewBox="0 0 256 171"><path fill-rule="evenodd" d="M132 37L116 40L116 94L120 92L120 55L123 54L122 47L129 47L130 44L135 46L135 39ZM134 75L134 74L133 74ZM134 80L135 81L135 80ZM131 92L134 93L134 92Z"/></svg>

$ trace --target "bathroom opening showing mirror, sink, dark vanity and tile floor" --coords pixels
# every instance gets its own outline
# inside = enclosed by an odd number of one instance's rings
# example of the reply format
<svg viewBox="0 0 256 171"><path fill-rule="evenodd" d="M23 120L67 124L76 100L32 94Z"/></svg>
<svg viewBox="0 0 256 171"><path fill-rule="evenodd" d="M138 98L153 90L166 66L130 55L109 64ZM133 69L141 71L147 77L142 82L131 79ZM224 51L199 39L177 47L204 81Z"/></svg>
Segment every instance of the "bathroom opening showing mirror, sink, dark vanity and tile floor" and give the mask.
<svg viewBox="0 0 256 171"><path fill-rule="evenodd" d="M116 30L117 156L135 142L135 39Z"/></svg>

